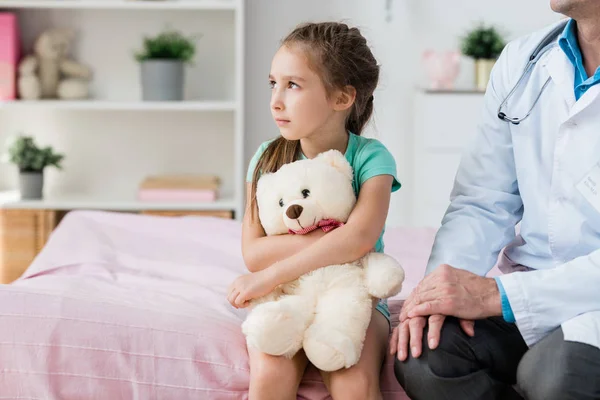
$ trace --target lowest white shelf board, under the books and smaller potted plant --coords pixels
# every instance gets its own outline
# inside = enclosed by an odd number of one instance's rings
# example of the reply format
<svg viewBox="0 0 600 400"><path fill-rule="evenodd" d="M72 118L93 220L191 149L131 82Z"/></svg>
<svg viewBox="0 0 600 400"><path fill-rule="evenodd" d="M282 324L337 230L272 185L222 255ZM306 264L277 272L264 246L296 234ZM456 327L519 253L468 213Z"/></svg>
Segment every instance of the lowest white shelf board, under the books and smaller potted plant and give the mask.
<svg viewBox="0 0 600 400"><path fill-rule="evenodd" d="M105 210L105 211L214 211L234 210L236 202L223 198L214 202L149 202L137 201L133 197L102 198L101 196L73 195L64 198L46 198L42 200L20 200L18 191L0 192L0 208L9 209L49 209L49 210Z"/></svg>

